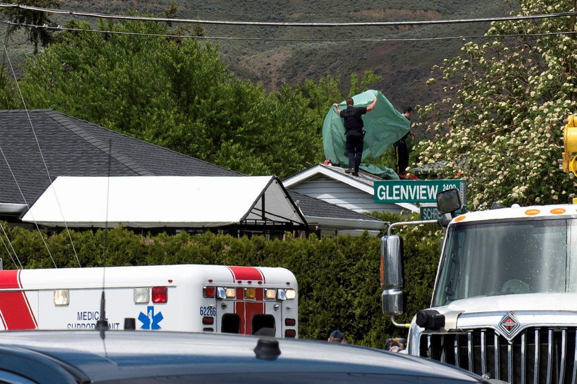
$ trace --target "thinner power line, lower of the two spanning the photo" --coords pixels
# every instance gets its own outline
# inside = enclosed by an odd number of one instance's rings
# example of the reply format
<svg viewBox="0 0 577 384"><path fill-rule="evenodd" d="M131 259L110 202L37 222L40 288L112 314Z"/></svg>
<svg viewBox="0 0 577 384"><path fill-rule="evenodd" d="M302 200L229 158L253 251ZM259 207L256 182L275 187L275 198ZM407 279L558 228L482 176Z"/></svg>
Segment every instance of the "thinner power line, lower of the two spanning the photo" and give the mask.
<svg viewBox="0 0 577 384"><path fill-rule="evenodd" d="M234 36L196 36L196 35L172 35L172 34L146 34L143 32L122 32L109 31L105 29L83 29L83 28L69 28L58 25L56 27L50 25L36 25L25 23L13 23L12 21L0 21L2 24L16 25L19 27L43 28L52 31L68 31L68 32L93 32L100 34L118 34L129 36L150 36L150 37L164 37L164 38L202 38L207 40L258 40L258 41L286 41L286 42L306 42L306 43L339 43L343 41L352 42L387 42L387 41L430 41L430 40L455 40L455 39L475 39L475 38L513 38L513 37L541 37L541 36L556 36L556 35L571 35L577 34L577 31L568 32L543 32L536 34L499 34L499 35L474 35L474 36L441 36L441 37L423 37L423 38L325 38L325 39L308 39L308 38L262 38L262 37L234 37Z"/></svg>

